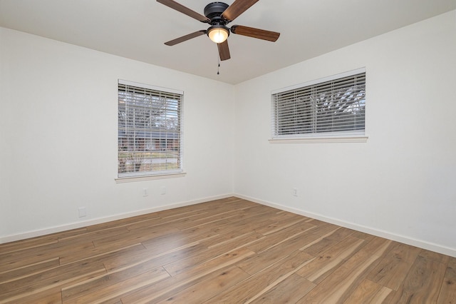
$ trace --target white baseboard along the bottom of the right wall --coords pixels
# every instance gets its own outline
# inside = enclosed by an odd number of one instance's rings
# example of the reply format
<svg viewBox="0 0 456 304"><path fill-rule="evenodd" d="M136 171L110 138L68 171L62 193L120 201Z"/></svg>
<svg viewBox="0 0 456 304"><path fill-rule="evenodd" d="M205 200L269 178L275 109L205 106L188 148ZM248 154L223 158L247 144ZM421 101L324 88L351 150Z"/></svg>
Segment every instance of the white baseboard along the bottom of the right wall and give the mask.
<svg viewBox="0 0 456 304"><path fill-rule="evenodd" d="M434 252L437 252L437 253L450 255L450 256L456 258L456 249L455 248L449 248L449 247L445 247L445 246L442 246L442 245L439 245L439 244L430 243L430 242L427 242L427 241L424 241L424 240L418 240L418 239L415 239L415 238L410 238L410 237L405 236L405 235L398 235L398 234L391 233L391 232L385 231L385 230L379 230L379 229L375 229L375 228L370 228L368 226L363 226L363 225L358 225L358 224L355 224L355 223L341 221L341 220L338 220L337 218L328 218L327 216L323 216L323 215L318 214L318 213L311 213L311 212L303 211L303 210L296 209L296 208L290 208L290 207L286 207L286 206L283 206L283 205L280 205L280 204L277 204L277 203L271 203L269 201L263 201L263 200L260 200L258 198L252 198L250 196L243 196L242 194L238 194L238 193L234 193L233 196L236 196L237 198L243 198L244 200L252 201L254 203L260 203L261 205L277 208L277 209L280 209L280 210L283 210L283 211L289 211L291 213L296 213L296 214L299 214L301 216L307 216L309 218L315 218L317 220L324 221L326 223L331 223L331 224L334 224L334 225L337 225L337 226L350 228L350 229L353 229L353 230L361 231L363 233L368 233L368 234L371 234L371 235L379 236L380 238L388 238L388 240L395 240L397 242L404 243L404 244L407 244L407 245L413 245L415 247L423 248L423 249L426 249L426 250L431 250L431 251L434 251Z"/></svg>

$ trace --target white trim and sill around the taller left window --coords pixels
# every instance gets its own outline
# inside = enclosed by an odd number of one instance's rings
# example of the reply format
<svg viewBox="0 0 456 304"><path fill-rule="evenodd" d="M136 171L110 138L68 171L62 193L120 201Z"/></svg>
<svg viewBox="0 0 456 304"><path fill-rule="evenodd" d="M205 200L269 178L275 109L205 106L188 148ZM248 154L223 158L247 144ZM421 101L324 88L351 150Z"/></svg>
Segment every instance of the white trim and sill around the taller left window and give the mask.
<svg viewBox="0 0 456 304"><path fill-rule="evenodd" d="M145 89L150 89L152 91L161 91L164 93L172 93L172 94L178 94L180 95L180 150L179 150L179 158L180 158L180 168L178 169L170 169L170 170L165 170L165 171L146 171L144 173L133 173L133 174L126 174L123 176L119 176L119 171L117 170L116 177L114 178L115 183L130 183L130 182L135 182L135 181L151 181L151 180L157 180L157 179L162 179L162 178L179 178L185 176L187 173L185 173L184 168L183 168L183 132L182 132L182 125L183 125L183 99L184 99L184 91L182 90L177 90L174 88L164 88L160 86L152 86L150 84L146 83L139 83L135 81L127 81L124 79L118 79L117 86L120 84L126 85L126 86L136 86L139 88L145 88ZM119 130L119 128L118 128Z"/></svg>

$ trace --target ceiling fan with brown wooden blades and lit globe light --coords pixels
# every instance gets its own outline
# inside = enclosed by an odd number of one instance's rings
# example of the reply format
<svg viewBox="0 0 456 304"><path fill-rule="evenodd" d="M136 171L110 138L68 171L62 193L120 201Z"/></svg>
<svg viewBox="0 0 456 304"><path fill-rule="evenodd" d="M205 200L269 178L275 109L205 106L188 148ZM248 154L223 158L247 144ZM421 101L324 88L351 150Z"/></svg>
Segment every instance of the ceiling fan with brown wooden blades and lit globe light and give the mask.
<svg viewBox="0 0 456 304"><path fill-rule="evenodd" d="M195 33L187 34L177 39L167 41L165 44L167 46L174 46L175 44L180 44L181 42L206 34L209 36L209 39L217 44L220 60L223 61L231 58L229 55L229 47L227 41L230 31L233 34L274 42L279 39L280 33L276 33L275 31L265 31L264 29L255 29L249 26L234 25L231 28L227 27L227 24L229 24L229 22L236 19L237 16L244 13L244 11L247 11L247 9L257 3L257 1L259 0L235 0L232 5L228 5L223 2L212 2L204 7L203 16L202 14L199 14L196 11L192 11L191 9L177 3L176 1L157 0L157 2L169 6L171 9L175 9L176 11L180 11L182 14L186 14L187 16L197 19L198 21L211 25L208 29L195 31Z"/></svg>

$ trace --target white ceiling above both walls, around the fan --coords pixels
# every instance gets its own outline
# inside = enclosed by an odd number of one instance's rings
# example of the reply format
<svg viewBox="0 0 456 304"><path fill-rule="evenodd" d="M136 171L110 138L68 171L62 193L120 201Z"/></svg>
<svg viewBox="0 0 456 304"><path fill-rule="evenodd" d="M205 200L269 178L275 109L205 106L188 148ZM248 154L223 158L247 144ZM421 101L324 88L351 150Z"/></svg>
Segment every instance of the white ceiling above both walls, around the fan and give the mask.
<svg viewBox="0 0 456 304"><path fill-rule="evenodd" d="M177 0L200 14L210 1ZM207 24L155 0L0 0L0 26L234 84L454 9L456 0L259 0L229 26L279 40L231 34L219 75L207 36L163 44Z"/></svg>

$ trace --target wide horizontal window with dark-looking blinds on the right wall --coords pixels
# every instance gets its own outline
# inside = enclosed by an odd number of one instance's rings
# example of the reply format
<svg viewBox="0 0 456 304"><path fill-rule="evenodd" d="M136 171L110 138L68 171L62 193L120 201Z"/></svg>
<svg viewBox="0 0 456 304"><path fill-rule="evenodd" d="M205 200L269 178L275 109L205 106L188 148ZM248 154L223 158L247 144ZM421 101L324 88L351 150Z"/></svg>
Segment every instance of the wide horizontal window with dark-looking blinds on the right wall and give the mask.
<svg viewBox="0 0 456 304"><path fill-rule="evenodd" d="M272 141L363 137L366 71L339 74L272 93Z"/></svg>

